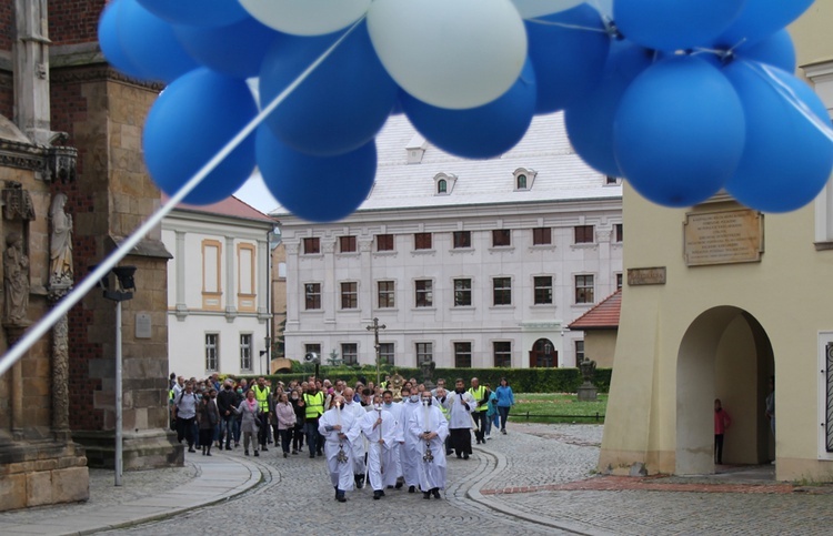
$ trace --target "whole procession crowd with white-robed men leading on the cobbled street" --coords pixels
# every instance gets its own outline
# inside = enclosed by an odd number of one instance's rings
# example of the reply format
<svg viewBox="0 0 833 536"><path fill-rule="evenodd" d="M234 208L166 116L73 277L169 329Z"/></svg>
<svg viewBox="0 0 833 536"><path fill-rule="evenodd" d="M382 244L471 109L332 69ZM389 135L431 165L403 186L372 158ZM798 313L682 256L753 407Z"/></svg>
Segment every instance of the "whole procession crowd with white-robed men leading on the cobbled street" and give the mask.
<svg viewBox="0 0 833 536"><path fill-rule="evenodd" d="M478 444L491 439L492 427L506 434L514 394L505 378L492 391L463 378L446 391L445 381L429 390L415 378L395 388L320 380L271 384L265 377L185 380L171 374L171 428L188 452L211 448L260 456L270 445L284 458L308 453L327 458L335 500L347 492L371 486L373 499L385 489L408 487L425 499L441 498L446 484L446 456L469 459L472 432ZM389 388L390 387L390 388ZM395 400L394 400L395 398ZM233 445L233 447L232 447Z"/></svg>

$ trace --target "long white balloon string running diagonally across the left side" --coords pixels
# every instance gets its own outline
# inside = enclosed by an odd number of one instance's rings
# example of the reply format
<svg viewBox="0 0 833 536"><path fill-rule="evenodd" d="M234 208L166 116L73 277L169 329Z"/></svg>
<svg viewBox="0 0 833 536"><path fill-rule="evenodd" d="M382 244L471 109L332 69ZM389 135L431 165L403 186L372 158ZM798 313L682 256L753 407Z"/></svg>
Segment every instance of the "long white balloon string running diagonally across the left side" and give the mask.
<svg viewBox="0 0 833 536"><path fill-rule="evenodd" d="M355 21L344 33L335 40L310 67L308 67L299 77L287 87L269 105L267 105L258 115L254 117L243 130L241 130L232 140L225 144L214 156L203 165L191 179L189 179L179 191L173 194L155 213L153 213L133 234L128 236L119 247L117 247L107 259L104 259L81 283L67 294L56 304L50 312L43 316L37 324L31 326L23 336L6 354L0 357L0 376L11 368L23 354L38 342L61 317L69 312L81 299L87 295L99 281L104 279L110 271L122 259L130 254L139 242L153 229L162 222L168 215L193 189L195 189L222 161L231 154L234 149L248 138L307 78L328 58L330 54L350 36L355 28L364 20L364 17Z"/></svg>

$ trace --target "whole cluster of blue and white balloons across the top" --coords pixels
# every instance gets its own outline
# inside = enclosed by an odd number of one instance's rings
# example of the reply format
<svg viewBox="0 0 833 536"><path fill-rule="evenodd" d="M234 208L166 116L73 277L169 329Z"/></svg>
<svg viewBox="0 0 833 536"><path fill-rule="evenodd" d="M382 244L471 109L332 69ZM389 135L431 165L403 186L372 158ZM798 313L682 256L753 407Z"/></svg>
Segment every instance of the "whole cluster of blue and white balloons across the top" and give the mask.
<svg viewBox="0 0 833 536"><path fill-rule="evenodd" d="M257 165L294 214L342 219L372 188L391 113L486 159L564 110L582 159L663 205L725 188L779 212L822 189L830 120L791 74L784 30L812 0L588 1L111 0L99 40L120 71L167 84L143 148L168 194L280 102L189 203L227 198Z"/></svg>

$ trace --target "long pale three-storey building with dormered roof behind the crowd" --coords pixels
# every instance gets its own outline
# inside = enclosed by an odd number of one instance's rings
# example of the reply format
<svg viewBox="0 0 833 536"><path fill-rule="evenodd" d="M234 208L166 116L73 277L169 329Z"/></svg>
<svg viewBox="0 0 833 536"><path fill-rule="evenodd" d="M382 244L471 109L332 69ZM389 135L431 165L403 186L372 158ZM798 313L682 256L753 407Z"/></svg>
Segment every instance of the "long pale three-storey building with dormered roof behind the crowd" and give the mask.
<svg viewBox="0 0 833 536"><path fill-rule="evenodd" d="M287 356L438 367L575 366L566 325L622 282L622 188L572 151L561 114L499 159L425 142L403 117L377 136L375 184L330 224L281 210Z"/></svg>

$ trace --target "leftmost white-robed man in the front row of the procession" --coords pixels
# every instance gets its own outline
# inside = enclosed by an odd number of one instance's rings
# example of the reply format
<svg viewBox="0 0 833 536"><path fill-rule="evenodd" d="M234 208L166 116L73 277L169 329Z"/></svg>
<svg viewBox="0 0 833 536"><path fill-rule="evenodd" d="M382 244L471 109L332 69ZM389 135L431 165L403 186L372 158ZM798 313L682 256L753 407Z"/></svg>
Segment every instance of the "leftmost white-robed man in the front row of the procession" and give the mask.
<svg viewBox="0 0 833 536"><path fill-rule="evenodd" d="M335 500L345 503L344 492L353 491L353 443L361 441L361 427L353 412L342 411L344 397L337 396L333 407L318 422L318 431L324 436L324 455L330 479L335 488Z"/></svg>

